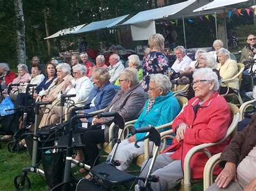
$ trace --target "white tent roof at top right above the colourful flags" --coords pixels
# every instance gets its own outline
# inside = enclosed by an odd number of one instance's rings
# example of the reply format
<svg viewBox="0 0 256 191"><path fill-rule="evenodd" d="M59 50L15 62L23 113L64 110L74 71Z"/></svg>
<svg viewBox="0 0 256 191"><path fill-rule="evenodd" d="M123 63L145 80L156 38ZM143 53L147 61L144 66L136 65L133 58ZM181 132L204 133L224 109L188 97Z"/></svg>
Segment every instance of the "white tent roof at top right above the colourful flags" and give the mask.
<svg viewBox="0 0 256 191"><path fill-rule="evenodd" d="M230 8L229 7L230 5L244 3L244 2L249 2L249 1L248 0L214 0L211 3L201 6L198 9L195 9L193 12L214 10L214 9L225 9L225 8ZM246 5L245 5L245 7L246 7Z"/></svg>

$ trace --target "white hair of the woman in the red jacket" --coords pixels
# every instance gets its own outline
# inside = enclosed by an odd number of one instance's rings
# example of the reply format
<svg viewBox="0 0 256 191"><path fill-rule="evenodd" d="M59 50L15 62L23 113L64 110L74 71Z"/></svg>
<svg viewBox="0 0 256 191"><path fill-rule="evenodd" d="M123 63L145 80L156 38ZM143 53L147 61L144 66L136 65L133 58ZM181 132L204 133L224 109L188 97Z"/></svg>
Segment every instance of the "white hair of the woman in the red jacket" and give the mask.
<svg viewBox="0 0 256 191"><path fill-rule="evenodd" d="M213 91L217 91L219 89L219 80L218 76L215 72L213 72L210 68L199 68L193 73L193 79L197 76L201 76L202 80L209 80L214 82Z"/></svg>

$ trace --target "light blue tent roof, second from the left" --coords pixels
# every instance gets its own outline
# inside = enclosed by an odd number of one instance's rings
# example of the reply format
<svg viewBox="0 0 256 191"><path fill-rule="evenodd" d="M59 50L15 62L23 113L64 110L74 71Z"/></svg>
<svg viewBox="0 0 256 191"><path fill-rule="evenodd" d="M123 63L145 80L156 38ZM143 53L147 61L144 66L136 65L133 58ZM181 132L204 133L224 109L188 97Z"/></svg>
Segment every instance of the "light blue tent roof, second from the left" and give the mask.
<svg viewBox="0 0 256 191"><path fill-rule="evenodd" d="M108 20L100 20L97 22L92 22L89 25L86 25L82 27L82 29L79 29L73 34L83 33L83 32L90 32L90 31L96 31L101 29L109 29L114 25L120 24L123 22L124 19L126 19L129 15L124 15L121 17L116 17Z"/></svg>

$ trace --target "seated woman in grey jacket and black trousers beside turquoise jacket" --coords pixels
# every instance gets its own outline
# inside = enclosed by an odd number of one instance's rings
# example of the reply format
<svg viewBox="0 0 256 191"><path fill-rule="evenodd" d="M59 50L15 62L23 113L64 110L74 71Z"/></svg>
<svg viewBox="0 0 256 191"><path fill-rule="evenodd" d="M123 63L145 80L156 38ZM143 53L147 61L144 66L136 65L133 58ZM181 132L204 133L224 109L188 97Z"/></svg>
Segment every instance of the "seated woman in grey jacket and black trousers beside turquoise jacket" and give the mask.
<svg viewBox="0 0 256 191"><path fill-rule="evenodd" d="M134 119L143 109L146 101L146 93L139 84L138 72L134 68L125 68L120 73L121 90L114 96L105 112L118 111L124 119ZM85 159L89 159L92 167L99 163L97 144L109 142L109 122L113 117L94 118L93 123L99 125L98 129L87 130L83 133ZM105 124L105 125L100 125Z"/></svg>

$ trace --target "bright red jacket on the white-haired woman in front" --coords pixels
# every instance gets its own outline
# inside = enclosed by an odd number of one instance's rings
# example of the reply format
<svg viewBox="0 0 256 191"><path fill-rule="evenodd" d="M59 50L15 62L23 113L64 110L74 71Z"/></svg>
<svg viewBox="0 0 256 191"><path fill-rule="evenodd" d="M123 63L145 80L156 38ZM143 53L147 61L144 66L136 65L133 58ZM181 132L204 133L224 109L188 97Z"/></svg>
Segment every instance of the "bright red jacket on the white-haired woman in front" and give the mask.
<svg viewBox="0 0 256 191"><path fill-rule="evenodd" d="M228 126L231 124L230 108L224 97L217 92L199 107L197 116L195 116L193 106L198 103L199 98L192 98L184 108L184 111L174 119L172 124L174 132L177 126L183 122L189 128L185 131L184 140L178 143L177 139L174 139L173 144L164 151L174 151L170 157L174 160L182 160L183 168L185 156L191 148L203 143L218 142L225 136ZM228 144L228 140L229 138L219 145L208 147L207 150L212 155L220 153ZM194 154L190 162L192 179L203 178L204 166L207 160L208 157L204 153ZM215 168L214 174L218 174L220 170L219 167Z"/></svg>

